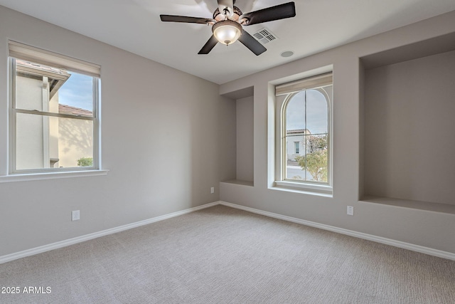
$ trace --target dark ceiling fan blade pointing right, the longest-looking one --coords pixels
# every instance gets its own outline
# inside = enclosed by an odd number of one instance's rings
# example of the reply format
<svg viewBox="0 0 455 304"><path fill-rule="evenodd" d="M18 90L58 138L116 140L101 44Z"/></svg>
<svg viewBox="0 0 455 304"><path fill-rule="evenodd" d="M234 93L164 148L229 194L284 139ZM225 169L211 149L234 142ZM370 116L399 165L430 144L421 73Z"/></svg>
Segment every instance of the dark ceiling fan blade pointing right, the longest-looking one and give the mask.
<svg viewBox="0 0 455 304"><path fill-rule="evenodd" d="M288 2L267 9L260 9L259 11L242 14L239 20L242 22L242 25L250 26L252 24L291 18L294 16L296 16L296 6L294 2ZM243 21L244 19L245 22Z"/></svg>

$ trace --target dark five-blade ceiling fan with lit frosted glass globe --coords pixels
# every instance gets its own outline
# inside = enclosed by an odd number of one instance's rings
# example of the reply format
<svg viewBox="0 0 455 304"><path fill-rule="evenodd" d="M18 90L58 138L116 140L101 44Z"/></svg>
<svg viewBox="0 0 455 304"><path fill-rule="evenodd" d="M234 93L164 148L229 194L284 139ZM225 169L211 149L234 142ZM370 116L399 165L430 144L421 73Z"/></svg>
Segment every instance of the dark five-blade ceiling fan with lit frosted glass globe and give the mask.
<svg viewBox="0 0 455 304"><path fill-rule="evenodd" d="M235 0L217 0L218 9L213 13L213 19L160 15L161 21L165 22L183 22L183 23L200 23L212 25L213 35L208 39L207 43L200 49L198 54L208 54L212 48L220 42L225 45L230 45L235 41L240 41L244 46L250 49L256 55L260 55L267 51L259 41L251 36L243 29L243 26L251 26L252 24L286 19L296 16L296 7L294 2L271 6L267 9L252 11L243 14L237 6L234 6Z"/></svg>

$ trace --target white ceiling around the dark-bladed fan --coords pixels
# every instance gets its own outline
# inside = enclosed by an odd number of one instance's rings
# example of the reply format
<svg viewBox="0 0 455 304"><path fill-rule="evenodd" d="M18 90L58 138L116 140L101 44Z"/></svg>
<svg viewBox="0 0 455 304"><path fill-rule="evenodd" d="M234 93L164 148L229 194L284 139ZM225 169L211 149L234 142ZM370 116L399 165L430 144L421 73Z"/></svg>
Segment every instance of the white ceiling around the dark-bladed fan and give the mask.
<svg viewBox="0 0 455 304"><path fill-rule="evenodd" d="M289 0L237 0L244 13ZM267 27L278 36L255 56L240 42L218 43L208 55L198 51L210 26L161 22L160 14L212 18L216 0L0 0L9 7L118 48L164 63L214 83L260 70L393 28L455 10L454 0L296 0L296 17L245 26ZM282 58L283 51L294 56Z"/></svg>

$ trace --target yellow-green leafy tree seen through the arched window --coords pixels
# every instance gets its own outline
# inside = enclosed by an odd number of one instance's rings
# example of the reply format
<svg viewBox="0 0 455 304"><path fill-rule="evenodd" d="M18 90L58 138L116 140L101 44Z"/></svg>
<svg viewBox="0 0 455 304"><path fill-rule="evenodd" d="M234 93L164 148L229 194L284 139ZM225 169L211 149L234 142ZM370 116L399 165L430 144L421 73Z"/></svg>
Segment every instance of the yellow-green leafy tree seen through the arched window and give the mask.
<svg viewBox="0 0 455 304"><path fill-rule="evenodd" d="M311 174L315 181L327 182L327 135L309 136L306 145L308 152L304 156L297 156L296 161L302 170Z"/></svg>

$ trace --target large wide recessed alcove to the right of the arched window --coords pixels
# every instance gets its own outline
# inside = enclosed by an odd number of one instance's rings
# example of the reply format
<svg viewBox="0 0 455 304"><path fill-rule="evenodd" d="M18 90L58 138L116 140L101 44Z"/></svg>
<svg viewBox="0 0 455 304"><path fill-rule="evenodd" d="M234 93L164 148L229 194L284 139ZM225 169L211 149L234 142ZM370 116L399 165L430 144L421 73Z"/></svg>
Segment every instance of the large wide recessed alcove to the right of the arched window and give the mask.
<svg viewBox="0 0 455 304"><path fill-rule="evenodd" d="M360 58L360 200L455 214L455 33Z"/></svg>

